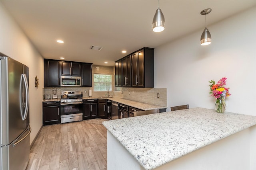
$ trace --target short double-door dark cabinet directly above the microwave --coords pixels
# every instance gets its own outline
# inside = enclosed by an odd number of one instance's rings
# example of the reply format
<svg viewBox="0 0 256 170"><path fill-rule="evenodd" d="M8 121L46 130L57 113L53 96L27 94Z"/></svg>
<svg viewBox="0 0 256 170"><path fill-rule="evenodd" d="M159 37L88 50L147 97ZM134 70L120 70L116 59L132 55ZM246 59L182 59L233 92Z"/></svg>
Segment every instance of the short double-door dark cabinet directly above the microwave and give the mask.
<svg viewBox="0 0 256 170"><path fill-rule="evenodd" d="M81 76L81 63L62 61L61 62L62 76Z"/></svg>

